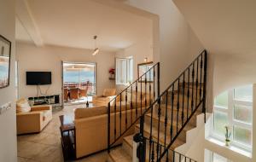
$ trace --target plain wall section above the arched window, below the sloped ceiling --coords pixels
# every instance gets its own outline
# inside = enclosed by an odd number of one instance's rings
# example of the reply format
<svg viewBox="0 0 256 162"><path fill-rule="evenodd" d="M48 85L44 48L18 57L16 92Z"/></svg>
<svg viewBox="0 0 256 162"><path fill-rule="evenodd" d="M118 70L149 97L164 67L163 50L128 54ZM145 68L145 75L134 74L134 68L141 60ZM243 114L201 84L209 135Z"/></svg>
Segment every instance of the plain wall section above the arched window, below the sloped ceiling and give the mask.
<svg viewBox="0 0 256 162"><path fill-rule="evenodd" d="M214 95L242 84L256 83L256 55L214 55Z"/></svg>

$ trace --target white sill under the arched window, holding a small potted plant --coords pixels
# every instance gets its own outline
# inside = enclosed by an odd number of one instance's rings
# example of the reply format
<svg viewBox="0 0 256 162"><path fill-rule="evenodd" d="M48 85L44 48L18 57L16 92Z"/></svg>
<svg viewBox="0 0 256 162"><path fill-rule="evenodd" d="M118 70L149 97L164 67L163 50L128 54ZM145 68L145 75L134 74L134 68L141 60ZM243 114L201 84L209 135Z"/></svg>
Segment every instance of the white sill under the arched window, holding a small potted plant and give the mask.
<svg viewBox="0 0 256 162"><path fill-rule="evenodd" d="M227 146L225 146L225 143L224 143L224 142L222 142L222 141L220 141L220 140L218 140L217 138L212 137L212 136L207 137L206 140L207 140L208 142L215 143L215 144L217 144L218 146L221 146L221 147L223 147L223 148L230 149L230 150L233 151L233 152L240 153L240 154L242 154L242 155L244 155L244 156L246 156L246 157L248 157L248 158L252 158L252 152L250 152L250 151L248 151L248 150L246 150L246 149L242 149L242 148L238 148L238 147L236 147L236 146L232 146L232 144L230 145L230 147L227 147Z"/></svg>

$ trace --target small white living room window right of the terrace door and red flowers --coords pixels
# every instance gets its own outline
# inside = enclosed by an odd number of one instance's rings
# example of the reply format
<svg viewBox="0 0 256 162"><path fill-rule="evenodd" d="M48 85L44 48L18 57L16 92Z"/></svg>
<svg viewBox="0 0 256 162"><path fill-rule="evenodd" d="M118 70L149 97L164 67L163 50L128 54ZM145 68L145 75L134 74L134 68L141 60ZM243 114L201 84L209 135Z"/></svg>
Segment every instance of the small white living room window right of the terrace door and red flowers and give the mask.
<svg viewBox="0 0 256 162"><path fill-rule="evenodd" d="M116 58L116 84L129 84L133 76L133 60L128 58Z"/></svg>

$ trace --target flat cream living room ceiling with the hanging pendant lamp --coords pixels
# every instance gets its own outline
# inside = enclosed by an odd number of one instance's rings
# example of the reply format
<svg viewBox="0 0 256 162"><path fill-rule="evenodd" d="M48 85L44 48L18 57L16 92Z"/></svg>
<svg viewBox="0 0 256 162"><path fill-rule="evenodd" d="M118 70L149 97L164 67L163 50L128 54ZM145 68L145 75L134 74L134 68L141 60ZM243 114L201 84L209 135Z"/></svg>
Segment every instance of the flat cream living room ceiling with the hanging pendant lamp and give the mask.
<svg viewBox="0 0 256 162"><path fill-rule="evenodd" d="M38 36L44 44L94 49L98 36L100 49L117 51L134 43L151 41L150 18L116 9L93 0L24 0ZM20 8L20 6L18 6ZM22 13L22 12L21 12ZM19 13L17 17L21 17ZM16 38L28 41L32 36L17 21ZM20 19L22 22L22 20ZM26 20L24 20L26 23ZM23 22L22 22L23 23ZM25 27L26 28L26 27ZM28 27L29 28L29 27ZM35 42L35 41L34 41Z"/></svg>

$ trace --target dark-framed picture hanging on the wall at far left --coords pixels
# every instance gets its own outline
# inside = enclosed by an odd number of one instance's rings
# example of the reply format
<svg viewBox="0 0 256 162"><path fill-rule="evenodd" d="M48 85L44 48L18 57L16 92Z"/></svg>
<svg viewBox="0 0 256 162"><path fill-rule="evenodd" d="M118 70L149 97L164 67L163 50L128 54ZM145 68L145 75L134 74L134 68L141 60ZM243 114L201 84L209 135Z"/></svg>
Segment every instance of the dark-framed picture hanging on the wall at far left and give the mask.
<svg viewBox="0 0 256 162"><path fill-rule="evenodd" d="M0 89L9 86L11 42L0 35Z"/></svg>

